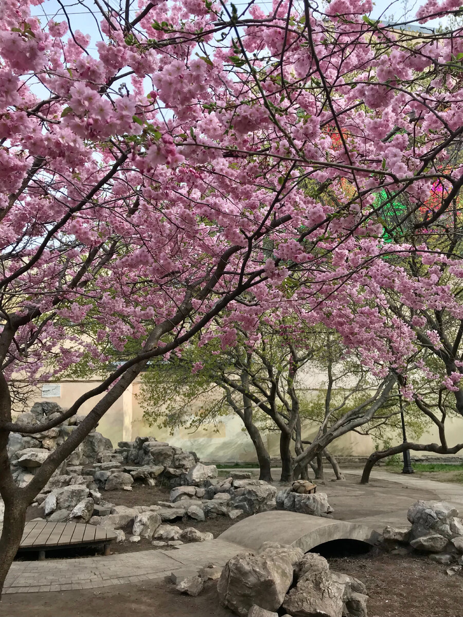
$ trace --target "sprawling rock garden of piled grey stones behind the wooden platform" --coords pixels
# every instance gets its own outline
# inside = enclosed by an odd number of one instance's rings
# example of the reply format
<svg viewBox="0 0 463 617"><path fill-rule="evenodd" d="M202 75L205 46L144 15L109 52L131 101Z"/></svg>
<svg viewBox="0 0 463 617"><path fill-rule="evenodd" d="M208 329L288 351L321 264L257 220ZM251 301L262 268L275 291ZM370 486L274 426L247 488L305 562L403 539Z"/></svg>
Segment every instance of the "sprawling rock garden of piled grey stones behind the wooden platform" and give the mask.
<svg viewBox="0 0 463 617"><path fill-rule="evenodd" d="M59 412L58 405L44 402L22 417L43 421ZM19 486L30 481L50 451L82 419L75 416L59 429L34 438L10 435L8 452ZM215 465L203 465L194 452L154 437L136 437L113 449L109 439L92 431L37 495L28 519L100 525L114 531L117 543L123 545L114 547L118 552L135 545L146 548L148 543L167 548L212 539L211 531L199 531L196 526L223 531L240 517L276 508L317 516L333 511L326 494L309 494L310 482L307 494L304 482L278 492L268 482L251 479L248 472L231 472L227 478L218 475ZM215 522L218 518L223 519L220 524Z"/></svg>

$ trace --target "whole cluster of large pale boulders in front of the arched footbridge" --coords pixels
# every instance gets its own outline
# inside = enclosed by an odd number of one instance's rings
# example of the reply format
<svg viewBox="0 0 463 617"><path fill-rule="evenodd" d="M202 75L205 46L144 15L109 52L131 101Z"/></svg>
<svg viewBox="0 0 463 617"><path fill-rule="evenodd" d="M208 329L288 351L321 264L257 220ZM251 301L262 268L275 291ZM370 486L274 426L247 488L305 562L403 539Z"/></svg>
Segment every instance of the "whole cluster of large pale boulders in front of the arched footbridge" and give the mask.
<svg viewBox="0 0 463 617"><path fill-rule="evenodd" d="M242 617L367 617L361 581L330 571L317 553L273 542L232 557L217 590L223 607Z"/></svg>

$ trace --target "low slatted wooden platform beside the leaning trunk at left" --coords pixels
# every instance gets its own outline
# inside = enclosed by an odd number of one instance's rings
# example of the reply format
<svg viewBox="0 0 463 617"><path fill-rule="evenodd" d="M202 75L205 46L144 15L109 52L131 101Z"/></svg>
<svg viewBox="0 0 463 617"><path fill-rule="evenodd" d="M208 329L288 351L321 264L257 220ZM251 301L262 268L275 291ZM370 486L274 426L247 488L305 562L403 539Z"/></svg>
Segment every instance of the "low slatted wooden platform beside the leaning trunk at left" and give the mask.
<svg viewBox="0 0 463 617"><path fill-rule="evenodd" d="M99 525L30 521L25 525L18 552L38 551L42 561L47 550L102 544L104 555L109 555L109 545L115 539L114 532Z"/></svg>

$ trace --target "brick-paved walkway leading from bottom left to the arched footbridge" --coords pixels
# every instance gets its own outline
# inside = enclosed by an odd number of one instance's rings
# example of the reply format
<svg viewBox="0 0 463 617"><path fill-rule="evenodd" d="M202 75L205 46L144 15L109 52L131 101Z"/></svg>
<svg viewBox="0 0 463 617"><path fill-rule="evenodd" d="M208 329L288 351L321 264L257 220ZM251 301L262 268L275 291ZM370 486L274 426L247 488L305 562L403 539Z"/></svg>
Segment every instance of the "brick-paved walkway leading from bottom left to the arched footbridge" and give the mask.
<svg viewBox="0 0 463 617"><path fill-rule="evenodd" d="M6 578L4 594L93 589L164 578L185 566L211 561L223 565L243 549L224 540L194 542L178 549L143 550L108 557L15 561Z"/></svg>

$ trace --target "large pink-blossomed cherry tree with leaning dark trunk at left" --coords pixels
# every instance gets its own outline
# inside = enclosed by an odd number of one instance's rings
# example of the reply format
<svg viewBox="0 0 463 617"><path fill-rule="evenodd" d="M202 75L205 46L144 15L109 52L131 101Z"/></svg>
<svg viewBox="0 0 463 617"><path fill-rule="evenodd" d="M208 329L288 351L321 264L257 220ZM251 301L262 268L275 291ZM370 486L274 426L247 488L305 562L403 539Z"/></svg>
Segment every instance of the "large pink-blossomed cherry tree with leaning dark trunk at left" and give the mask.
<svg viewBox="0 0 463 617"><path fill-rule="evenodd" d="M234 321L249 329L256 311L288 304L330 320L392 387L415 337L379 315L375 294L397 276L416 283L388 256L421 260L428 247L385 242L385 225L388 238L407 222L415 240L432 233L463 184L459 158L444 156L463 133L459 29L401 31L370 19L370 0L275 0L267 12L125 0L96 2L91 40L62 1L38 19L46 4L0 6L0 587L51 474L150 358L207 338L225 307L224 348ZM430 0L417 17L458 12ZM397 194L407 209L389 224ZM104 344L129 338L138 349L60 418L12 420L15 375L33 384L81 358L98 371ZM99 394L15 486L9 433L53 428Z"/></svg>

